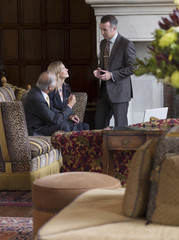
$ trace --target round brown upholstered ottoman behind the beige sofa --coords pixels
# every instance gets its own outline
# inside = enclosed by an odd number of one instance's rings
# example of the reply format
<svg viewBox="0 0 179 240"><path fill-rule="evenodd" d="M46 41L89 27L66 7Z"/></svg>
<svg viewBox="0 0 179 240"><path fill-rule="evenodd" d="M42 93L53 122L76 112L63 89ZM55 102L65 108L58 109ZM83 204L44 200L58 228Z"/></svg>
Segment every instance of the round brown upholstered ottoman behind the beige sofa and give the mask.
<svg viewBox="0 0 179 240"><path fill-rule="evenodd" d="M64 172L33 182L34 234L81 193L94 188L121 188L118 179L96 172Z"/></svg>

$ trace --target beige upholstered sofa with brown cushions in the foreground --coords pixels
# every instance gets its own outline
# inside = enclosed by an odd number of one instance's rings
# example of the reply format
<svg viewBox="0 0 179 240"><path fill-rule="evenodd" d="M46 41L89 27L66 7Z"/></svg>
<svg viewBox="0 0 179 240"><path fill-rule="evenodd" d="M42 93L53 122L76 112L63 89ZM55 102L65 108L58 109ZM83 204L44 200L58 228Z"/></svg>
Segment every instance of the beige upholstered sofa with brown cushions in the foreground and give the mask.
<svg viewBox="0 0 179 240"><path fill-rule="evenodd" d="M178 240L179 127L148 140L133 155L126 188L77 197L36 240Z"/></svg>

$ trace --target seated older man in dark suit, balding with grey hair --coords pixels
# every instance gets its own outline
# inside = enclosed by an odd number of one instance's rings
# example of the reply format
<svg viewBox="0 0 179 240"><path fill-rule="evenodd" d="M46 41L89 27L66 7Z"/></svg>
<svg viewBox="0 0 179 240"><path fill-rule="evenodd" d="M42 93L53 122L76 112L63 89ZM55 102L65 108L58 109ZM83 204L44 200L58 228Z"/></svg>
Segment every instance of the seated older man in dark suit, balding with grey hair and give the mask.
<svg viewBox="0 0 179 240"><path fill-rule="evenodd" d="M80 131L88 130L87 123L79 122L72 111L76 98L73 94L68 98L68 104L63 111L53 108L49 102L48 93L56 87L56 76L50 72L43 72L37 84L27 94L25 115L28 134L51 136L58 130Z"/></svg>

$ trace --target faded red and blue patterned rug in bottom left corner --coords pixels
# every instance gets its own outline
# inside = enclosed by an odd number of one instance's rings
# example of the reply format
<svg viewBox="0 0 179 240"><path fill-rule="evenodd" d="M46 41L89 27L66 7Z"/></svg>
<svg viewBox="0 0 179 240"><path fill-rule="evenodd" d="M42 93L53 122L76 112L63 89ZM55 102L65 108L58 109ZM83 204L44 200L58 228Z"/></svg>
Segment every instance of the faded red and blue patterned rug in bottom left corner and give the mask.
<svg viewBox="0 0 179 240"><path fill-rule="evenodd" d="M0 217L1 240L33 239L32 218Z"/></svg>

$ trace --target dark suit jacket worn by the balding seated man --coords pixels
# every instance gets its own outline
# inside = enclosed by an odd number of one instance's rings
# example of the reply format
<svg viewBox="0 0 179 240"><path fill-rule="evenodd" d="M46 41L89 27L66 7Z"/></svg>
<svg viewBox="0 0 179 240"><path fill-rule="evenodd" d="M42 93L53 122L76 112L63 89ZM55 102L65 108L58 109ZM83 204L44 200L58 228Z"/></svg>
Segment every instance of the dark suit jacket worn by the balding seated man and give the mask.
<svg viewBox="0 0 179 240"><path fill-rule="evenodd" d="M66 106L63 111L50 107L38 87L29 91L24 106L29 135L32 135L32 129L37 130L50 125L58 125L60 130L63 121L72 114L69 106Z"/></svg>

